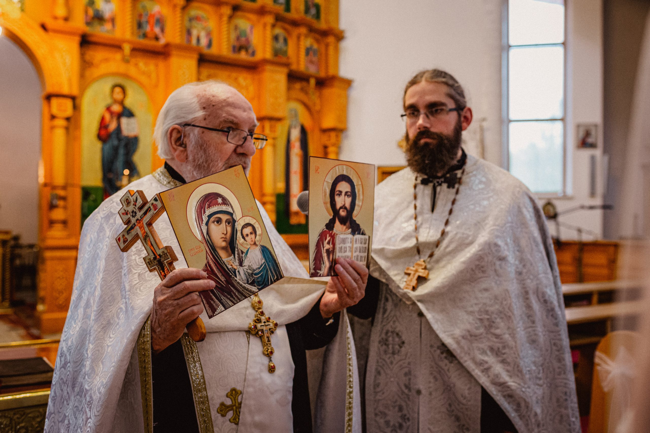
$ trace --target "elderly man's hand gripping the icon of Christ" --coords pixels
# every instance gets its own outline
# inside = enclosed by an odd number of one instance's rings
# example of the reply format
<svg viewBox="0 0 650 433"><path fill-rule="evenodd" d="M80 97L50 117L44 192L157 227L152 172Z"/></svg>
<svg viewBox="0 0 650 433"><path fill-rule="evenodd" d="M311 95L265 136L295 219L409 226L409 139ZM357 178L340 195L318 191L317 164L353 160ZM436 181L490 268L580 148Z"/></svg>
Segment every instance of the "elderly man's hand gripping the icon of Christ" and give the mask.
<svg viewBox="0 0 650 433"><path fill-rule="evenodd" d="M368 282L368 269L349 258L337 258L335 269L339 276L330 278L320 299L320 314L325 319L361 301Z"/></svg>

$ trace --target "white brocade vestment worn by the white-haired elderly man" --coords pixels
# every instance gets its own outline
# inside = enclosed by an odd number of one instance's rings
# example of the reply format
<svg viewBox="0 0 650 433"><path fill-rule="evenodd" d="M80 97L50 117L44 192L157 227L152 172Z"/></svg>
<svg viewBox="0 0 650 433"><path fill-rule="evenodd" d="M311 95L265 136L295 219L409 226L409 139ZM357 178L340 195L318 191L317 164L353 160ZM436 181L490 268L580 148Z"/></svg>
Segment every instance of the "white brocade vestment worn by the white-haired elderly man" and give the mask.
<svg viewBox="0 0 650 433"><path fill-rule="evenodd" d="M146 253L139 242L122 253L115 238L125 227L118 210L127 190L142 190L151 199L167 189L148 175L106 199L86 219L45 432L144 431L136 341L151 312L153 290L160 279L144 264ZM275 373L268 373L261 341L255 336L250 341L246 338L254 316L250 301L242 301L213 319L205 312L201 314L207 337L196 347L214 432L292 431L294 364L285 325L304 317L324 290L324 282L305 279L304 267L264 208L259 203L258 207L279 264L289 277L259 292L265 314L279 325L271 338L277 368ZM163 245L176 252L179 260L175 267L187 267L168 216L163 214L154 227ZM354 387L356 358L350 335L346 315L341 314L337 336L324 351L318 390L322 404L313 414L317 432L360 432L358 390ZM229 422L232 412L226 417L216 412L220 402L231 404L226 397L231 388L242 390L239 425Z"/></svg>

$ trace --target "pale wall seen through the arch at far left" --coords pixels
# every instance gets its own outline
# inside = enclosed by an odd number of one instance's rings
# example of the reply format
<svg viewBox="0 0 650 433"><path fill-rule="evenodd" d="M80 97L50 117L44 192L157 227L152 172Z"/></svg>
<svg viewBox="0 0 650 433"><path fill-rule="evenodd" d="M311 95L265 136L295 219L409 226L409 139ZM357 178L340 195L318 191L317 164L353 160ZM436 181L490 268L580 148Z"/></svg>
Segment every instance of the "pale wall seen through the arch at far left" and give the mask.
<svg viewBox="0 0 650 433"><path fill-rule="evenodd" d="M41 84L31 61L0 36L0 229L38 238Z"/></svg>

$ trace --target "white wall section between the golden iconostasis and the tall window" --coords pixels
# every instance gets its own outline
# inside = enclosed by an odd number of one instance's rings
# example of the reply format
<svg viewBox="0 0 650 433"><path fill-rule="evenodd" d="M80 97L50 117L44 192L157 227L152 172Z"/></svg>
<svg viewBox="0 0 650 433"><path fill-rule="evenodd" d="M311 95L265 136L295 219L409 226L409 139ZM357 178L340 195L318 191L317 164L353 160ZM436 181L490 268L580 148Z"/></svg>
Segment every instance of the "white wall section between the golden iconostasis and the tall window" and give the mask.
<svg viewBox="0 0 650 433"><path fill-rule="evenodd" d="M341 159L404 165L396 146L404 86L422 69L440 68L461 82L474 110L468 151L480 153L478 121L486 118L485 155L499 164L500 14L499 1L341 0L339 72L354 80Z"/></svg>

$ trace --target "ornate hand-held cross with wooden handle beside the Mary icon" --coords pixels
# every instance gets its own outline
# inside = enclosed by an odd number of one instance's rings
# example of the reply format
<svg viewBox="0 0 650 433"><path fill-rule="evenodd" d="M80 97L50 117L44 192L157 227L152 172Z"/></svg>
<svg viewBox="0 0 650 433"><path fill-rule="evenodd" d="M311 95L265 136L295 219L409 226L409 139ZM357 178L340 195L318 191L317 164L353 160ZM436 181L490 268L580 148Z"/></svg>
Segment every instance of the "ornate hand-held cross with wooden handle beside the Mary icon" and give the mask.
<svg viewBox="0 0 650 433"><path fill-rule="evenodd" d="M174 262L178 260L172 247L162 246L153 223L164 212L160 195L147 201L144 192L129 190L120 199L120 218L126 225L120 236L115 238L123 253L133 247L140 240L147 255L143 257L149 272L156 271L161 280L164 280L174 269ZM205 339L205 325L201 317L197 317L187 324L187 333L194 341Z"/></svg>

